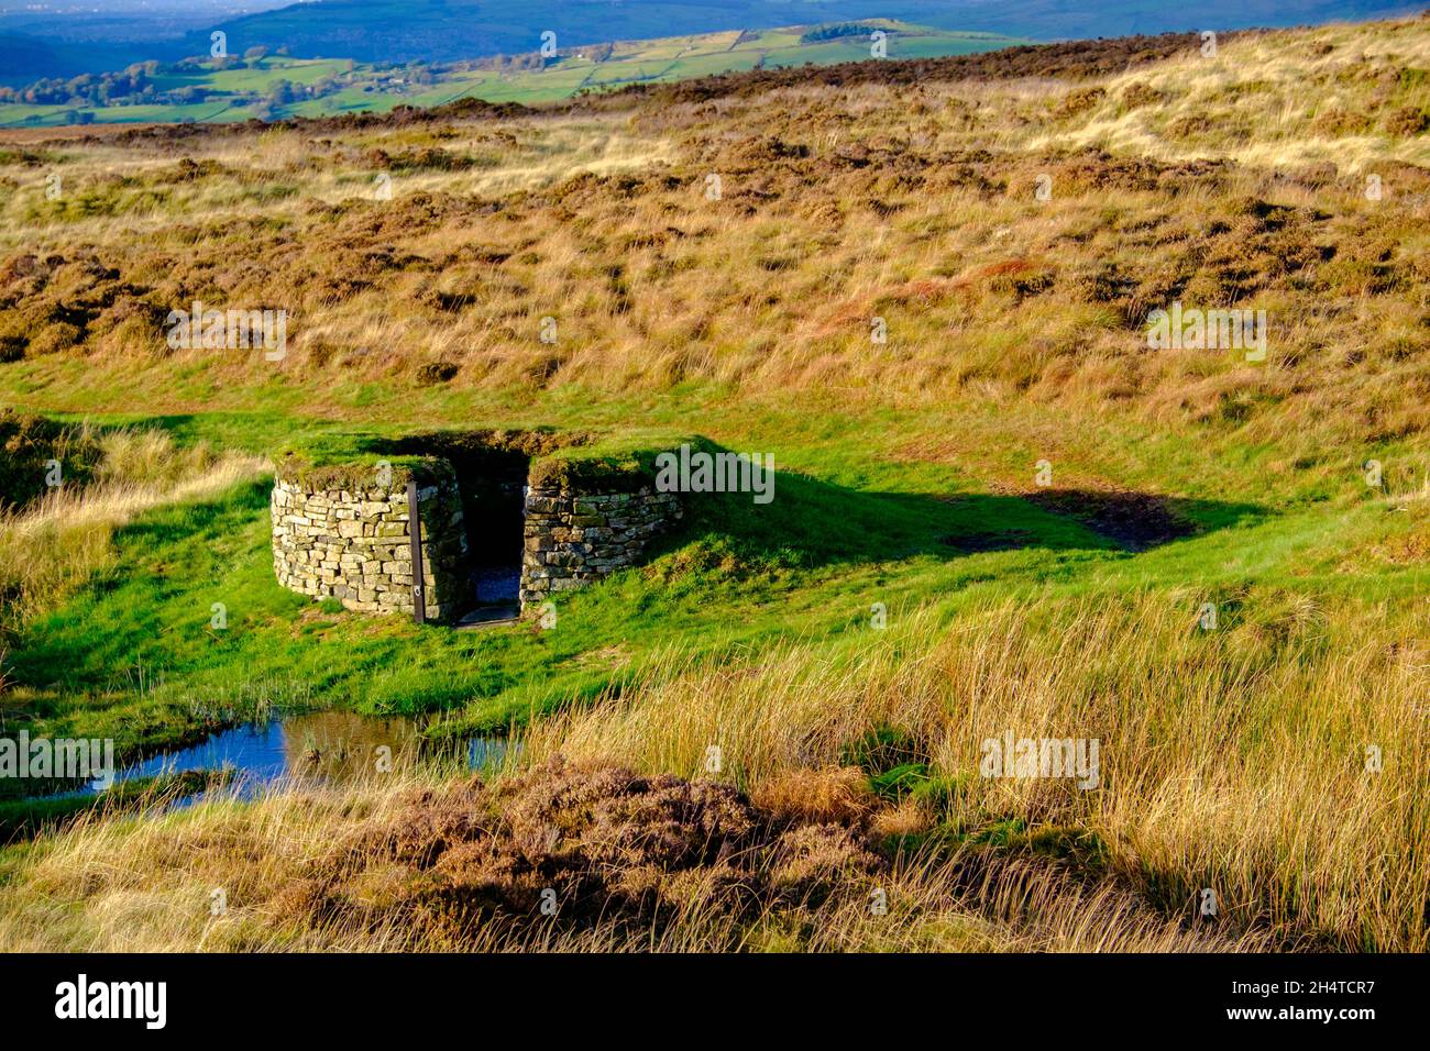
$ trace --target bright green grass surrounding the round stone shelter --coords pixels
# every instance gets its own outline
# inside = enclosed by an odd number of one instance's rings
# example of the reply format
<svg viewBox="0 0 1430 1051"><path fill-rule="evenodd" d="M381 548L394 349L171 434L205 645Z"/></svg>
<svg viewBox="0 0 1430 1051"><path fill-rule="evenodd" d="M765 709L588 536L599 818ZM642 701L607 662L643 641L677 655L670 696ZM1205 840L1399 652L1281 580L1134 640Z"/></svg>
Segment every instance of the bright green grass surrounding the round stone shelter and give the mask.
<svg viewBox="0 0 1430 1051"><path fill-rule="evenodd" d="M272 572L266 480L152 512L116 535L117 569L17 639L7 665L23 699L9 716L31 732L113 735L124 752L190 741L209 728L202 714L225 706L343 706L436 716L433 734L470 732L619 692L672 656L719 661L792 635L831 653L858 646L874 602L891 621L932 608L954 622L990 596L1072 602L1153 589L1185 592L1168 601L1185 605L1190 623L1197 596L1257 592L1274 608L1281 589L1296 588L1404 601L1426 583L1413 566L1338 572L1347 542L1394 528L1376 503L1188 502L1200 535L1130 555L945 468L871 458L859 443L869 420L805 418L771 442L772 429L745 432L751 420L741 415L709 422L724 425L728 448L775 453L775 500L696 498L688 525L649 566L562 599L546 632L416 626L283 591ZM162 426L180 442L296 445L335 459L382 433L276 413L113 422ZM975 549L957 538L974 538ZM225 631L209 626L214 602L226 608Z"/></svg>

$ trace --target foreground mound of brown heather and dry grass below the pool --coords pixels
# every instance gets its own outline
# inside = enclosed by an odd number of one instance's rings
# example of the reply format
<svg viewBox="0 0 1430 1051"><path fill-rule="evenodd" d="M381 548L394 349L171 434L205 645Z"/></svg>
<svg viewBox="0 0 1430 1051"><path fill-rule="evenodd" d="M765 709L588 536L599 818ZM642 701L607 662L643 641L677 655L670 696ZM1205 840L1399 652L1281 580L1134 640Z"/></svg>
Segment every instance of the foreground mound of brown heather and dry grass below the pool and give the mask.
<svg viewBox="0 0 1430 1051"><path fill-rule="evenodd" d="M844 781L835 775L837 781ZM93 819L0 908L7 949L1250 951L1110 881L980 851L877 849L865 811L551 762L486 786L386 778ZM106 858L109 861L106 861ZM113 864L114 859L122 859ZM212 917L209 889L229 904ZM541 911L552 891L555 915ZM885 911L871 909L882 892ZM0 904L14 891L0 889ZM84 898L83 915L54 902ZM49 902L49 904L44 904Z"/></svg>

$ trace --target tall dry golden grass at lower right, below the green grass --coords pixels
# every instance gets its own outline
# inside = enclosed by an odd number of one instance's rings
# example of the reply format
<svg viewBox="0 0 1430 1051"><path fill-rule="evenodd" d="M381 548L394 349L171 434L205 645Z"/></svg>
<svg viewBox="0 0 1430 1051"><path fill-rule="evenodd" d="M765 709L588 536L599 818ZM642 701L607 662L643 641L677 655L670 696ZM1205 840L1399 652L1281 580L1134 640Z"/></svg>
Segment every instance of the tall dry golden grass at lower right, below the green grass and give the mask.
<svg viewBox="0 0 1430 1051"><path fill-rule="evenodd" d="M1074 854L1091 837L1108 874L1168 912L1194 915L1211 888L1226 922L1281 944L1426 951L1426 613L1400 626L1287 599L1213 636L1193 609L1008 602L947 629L918 619L838 662L791 643L758 668L662 669L523 739L533 759L688 775L718 745L725 776L778 799L891 726L954 785L940 818L955 828L1020 816L1030 842L1041 831ZM924 638L938 641L925 652ZM1005 731L1097 738L1100 788L978 776L980 742Z"/></svg>

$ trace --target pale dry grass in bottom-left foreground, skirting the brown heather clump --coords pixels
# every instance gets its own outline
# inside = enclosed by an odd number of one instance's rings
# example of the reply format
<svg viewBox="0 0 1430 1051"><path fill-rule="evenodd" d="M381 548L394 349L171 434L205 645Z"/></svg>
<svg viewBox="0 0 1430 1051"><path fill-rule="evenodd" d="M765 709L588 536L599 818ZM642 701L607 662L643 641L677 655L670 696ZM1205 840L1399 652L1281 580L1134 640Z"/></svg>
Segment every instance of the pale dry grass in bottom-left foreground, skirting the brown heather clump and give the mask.
<svg viewBox="0 0 1430 1051"><path fill-rule="evenodd" d="M277 788L236 805L210 799L166 816L86 818L4 855L3 951L1254 951L1261 935L1161 917L1110 881L961 849L899 857L881 877L812 899L732 914L696 894L658 925L616 909L585 922L496 911L450 919L389 908L412 874L363 829L402 828L429 779L393 775L343 789ZM449 852L455 849L449 848ZM355 868L356 867L356 868ZM349 914L315 922L293 888L342 877ZM641 878L616 864L611 878ZM420 888L422 881L416 885ZM569 888L568 888L569 889ZM214 914L214 892L225 908ZM879 894L875 905L875 892ZM482 901L478 892L473 901ZM562 899L566 901L563 889ZM440 898L435 899L440 901ZM569 909L566 901L563 908Z"/></svg>

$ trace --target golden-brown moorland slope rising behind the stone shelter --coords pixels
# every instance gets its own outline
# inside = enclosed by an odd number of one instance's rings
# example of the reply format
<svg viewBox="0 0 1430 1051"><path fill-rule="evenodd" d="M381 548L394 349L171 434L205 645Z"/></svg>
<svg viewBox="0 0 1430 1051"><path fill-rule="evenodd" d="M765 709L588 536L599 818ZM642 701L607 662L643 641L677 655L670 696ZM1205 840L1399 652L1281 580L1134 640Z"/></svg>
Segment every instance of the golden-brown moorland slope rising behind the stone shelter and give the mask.
<svg viewBox="0 0 1430 1051"><path fill-rule="evenodd" d="M163 346L164 313L204 299L286 309L277 367L316 406L443 362L455 392L706 380L925 412L1227 419L1247 443L1420 436L1430 136L1386 122L1430 113L1427 36L1423 19L1237 36L1075 82L794 83L30 144L41 159L10 166L0 337L47 380L87 355L112 408L242 408L266 382L257 355ZM1348 133L1327 109L1373 126ZM57 203L36 179L46 156L63 157ZM1144 353L1143 317L1174 299L1266 309L1268 360ZM200 389L160 386L199 365Z"/></svg>

